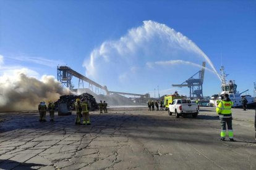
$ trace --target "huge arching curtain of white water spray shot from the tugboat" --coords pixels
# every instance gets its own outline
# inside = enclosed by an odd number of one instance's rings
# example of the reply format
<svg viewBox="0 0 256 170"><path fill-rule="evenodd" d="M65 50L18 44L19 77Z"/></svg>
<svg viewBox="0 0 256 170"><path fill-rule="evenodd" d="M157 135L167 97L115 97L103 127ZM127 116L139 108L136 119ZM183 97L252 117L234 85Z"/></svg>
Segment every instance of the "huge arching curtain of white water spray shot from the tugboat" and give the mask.
<svg viewBox="0 0 256 170"><path fill-rule="evenodd" d="M169 71L164 70L161 62L170 60L184 62L172 63L176 67L169 67ZM206 70L218 76L210 59L194 42L173 28L149 20L144 21L142 26L132 28L116 41L103 42L100 47L91 52L83 66L86 68L88 77L101 84L107 84L110 89L112 86L120 89L135 86L142 91L145 90L145 84L147 86L152 84L152 80L164 79L166 76L163 74L164 71L169 75L174 69L182 68L184 73L191 74L198 70L195 67L202 65L203 61L207 62ZM189 63L192 67L182 67ZM173 81L174 79L170 80L169 84ZM179 83L181 80L175 79L175 81Z"/></svg>

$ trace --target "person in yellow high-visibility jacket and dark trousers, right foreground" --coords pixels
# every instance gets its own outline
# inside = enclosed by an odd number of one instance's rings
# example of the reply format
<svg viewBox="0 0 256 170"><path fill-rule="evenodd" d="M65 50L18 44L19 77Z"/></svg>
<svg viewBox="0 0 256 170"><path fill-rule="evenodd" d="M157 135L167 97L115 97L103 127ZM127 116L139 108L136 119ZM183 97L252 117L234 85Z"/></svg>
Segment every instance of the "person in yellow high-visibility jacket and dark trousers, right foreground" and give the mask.
<svg viewBox="0 0 256 170"><path fill-rule="evenodd" d="M220 101L216 112L220 116L221 120L221 140L224 141L226 137L226 124L228 125L228 136L231 142L234 142L233 128L232 128L232 113L231 107L233 102L229 99L228 94L224 94L224 99Z"/></svg>

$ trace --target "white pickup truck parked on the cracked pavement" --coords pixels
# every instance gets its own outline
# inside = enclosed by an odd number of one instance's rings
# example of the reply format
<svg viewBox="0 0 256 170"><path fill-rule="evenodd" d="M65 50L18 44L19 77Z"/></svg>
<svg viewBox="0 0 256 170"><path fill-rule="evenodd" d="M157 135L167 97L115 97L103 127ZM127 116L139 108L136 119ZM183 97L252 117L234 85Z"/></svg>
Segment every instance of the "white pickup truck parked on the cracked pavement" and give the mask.
<svg viewBox="0 0 256 170"><path fill-rule="evenodd" d="M179 116L192 115L197 118L199 112L199 105L192 103L189 99L175 99L173 103L169 104L168 114L171 116L175 113L176 118Z"/></svg>

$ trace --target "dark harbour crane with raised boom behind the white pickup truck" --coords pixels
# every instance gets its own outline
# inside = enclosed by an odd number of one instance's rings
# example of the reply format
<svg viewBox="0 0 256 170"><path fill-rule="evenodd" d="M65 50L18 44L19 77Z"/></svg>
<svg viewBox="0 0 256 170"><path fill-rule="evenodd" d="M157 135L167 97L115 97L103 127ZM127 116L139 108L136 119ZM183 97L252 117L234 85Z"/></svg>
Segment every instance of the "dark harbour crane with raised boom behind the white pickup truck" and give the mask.
<svg viewBox="0 0 256 170"><path fill-rule="evenodd" d="M203 62L202 70L195 73L189 79L181 84L173 84L174 87L189 87L190 98L203 98L203 78L205 75L205 62Z"/></svg>

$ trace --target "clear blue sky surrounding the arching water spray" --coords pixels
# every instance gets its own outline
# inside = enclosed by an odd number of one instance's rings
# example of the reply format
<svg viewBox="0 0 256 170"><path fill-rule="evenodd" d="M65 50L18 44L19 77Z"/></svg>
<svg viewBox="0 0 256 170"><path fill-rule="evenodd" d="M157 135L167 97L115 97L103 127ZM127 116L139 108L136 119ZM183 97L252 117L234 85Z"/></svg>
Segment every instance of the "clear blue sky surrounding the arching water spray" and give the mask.
<svg viewBox="0 0 256 170"><path fill-rule="evenodd" d="M83 62L94 49L105 41L117 41L145 20L163 23L187 36L217 70L222 55L226 72L236 79L239 91L250 89L253 94L256 1L0 1L0 55L4 59L0 75L9 69L29 68L40 76L56 76L58 63L85 74ZM108 75L109 81L90 78L111 91L145 93L158 85L160 90L172 88L171 84L182 83L195 70L198 68L176 82L145 73L140 76L152 80L143 86L115 85L118 80L113 73ZM217 94L220 81L211 73L205 76L205 95Z"/></svg>

